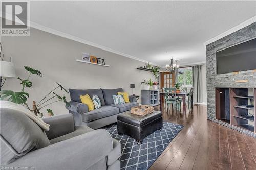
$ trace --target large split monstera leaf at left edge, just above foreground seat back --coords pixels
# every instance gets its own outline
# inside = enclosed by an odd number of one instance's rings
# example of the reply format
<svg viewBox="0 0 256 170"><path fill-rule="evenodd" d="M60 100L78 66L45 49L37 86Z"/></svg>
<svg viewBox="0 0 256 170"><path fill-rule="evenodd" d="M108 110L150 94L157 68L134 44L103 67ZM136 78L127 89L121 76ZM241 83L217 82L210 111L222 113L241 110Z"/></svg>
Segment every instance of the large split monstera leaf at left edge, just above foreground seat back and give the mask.
<svg viewBox="0 0 256 170"><path fill-rule="evenodd" d="M29 97L28 93L22 91L14 92L11 90L3 90L0 91L0 93L1 99L7 99L8 101L17 104L25 103L27 101L27 97Z"/></svg>

